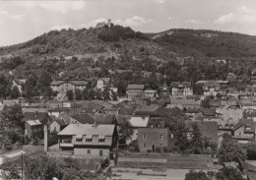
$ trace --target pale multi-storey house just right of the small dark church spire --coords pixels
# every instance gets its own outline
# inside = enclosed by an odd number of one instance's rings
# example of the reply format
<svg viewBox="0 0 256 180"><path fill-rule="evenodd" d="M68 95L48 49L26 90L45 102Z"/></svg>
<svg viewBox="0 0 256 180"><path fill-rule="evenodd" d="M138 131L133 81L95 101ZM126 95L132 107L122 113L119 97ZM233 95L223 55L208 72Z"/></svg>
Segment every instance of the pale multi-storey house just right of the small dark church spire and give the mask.
<svg viewBox="0 0 256 180"><path fill-rule="evenodd" d="M172 82L170 87L172 95L193 95L190 82Z"/></svg>

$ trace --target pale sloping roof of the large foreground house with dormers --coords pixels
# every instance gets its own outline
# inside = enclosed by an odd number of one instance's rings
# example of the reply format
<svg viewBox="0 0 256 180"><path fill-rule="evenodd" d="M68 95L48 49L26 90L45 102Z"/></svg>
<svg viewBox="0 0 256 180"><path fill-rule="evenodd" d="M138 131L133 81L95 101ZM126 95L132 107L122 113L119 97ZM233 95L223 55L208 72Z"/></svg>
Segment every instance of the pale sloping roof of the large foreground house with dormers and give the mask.
<svg viewBox="0 0 256 180"><path fill-rule="evenodd" d="M91 125L91 124L70 124L58 135L105 135L112 136L114 125Z"/></svg>

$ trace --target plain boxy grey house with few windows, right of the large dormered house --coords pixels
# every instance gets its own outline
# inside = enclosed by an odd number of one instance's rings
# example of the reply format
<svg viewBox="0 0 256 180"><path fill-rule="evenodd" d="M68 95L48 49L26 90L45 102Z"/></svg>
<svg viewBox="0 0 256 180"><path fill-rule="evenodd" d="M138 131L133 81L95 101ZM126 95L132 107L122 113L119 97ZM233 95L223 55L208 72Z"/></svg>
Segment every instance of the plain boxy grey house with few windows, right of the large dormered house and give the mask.
<svg viewBox="0 0 256 180"><path fill-rule="evenodd" d="M170 133L167 128L139 128L138 146L140 151L170 150Z"/></svg>

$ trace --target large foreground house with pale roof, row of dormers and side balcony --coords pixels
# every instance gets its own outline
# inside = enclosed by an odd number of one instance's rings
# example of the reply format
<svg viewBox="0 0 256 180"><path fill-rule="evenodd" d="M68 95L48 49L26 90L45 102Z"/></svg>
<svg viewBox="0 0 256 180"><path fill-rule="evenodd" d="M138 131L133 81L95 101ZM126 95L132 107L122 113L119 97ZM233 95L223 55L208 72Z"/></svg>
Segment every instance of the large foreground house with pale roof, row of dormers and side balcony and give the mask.
<svg viewBox="0 0 256 180"><path fill-rule="evenodd" d="M59 148L75 155L96 155L109 158L116 147L115 125L70 124L58 133Z"/></svg>

